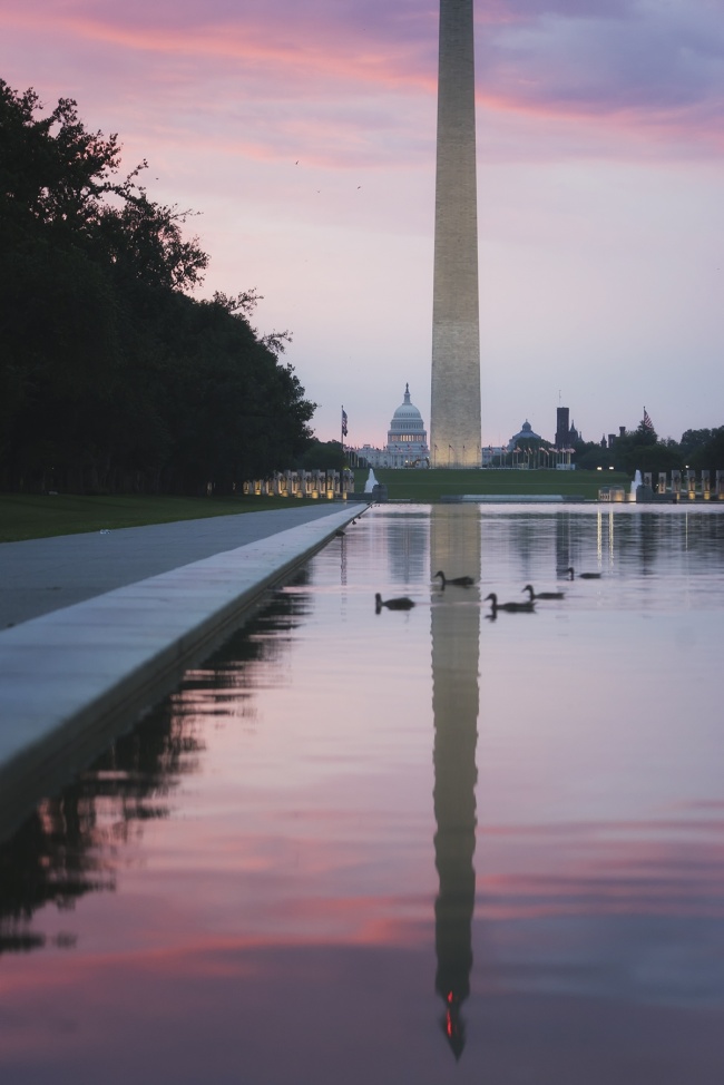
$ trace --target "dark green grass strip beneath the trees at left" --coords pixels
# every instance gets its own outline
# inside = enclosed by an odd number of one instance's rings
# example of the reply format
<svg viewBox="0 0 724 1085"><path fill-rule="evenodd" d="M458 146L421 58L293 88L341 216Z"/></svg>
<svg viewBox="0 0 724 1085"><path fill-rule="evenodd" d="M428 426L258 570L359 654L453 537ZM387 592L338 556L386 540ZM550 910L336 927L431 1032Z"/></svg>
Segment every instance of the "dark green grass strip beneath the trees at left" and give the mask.
<svg viewBox="0 0 724 1085"><path fill-rule="evenodd" d="M41 539L52 535L78 535L144 524L196 520L260 509L288 508L299 498L238 497L81 497L72 493L0 495L0 542Z"/></svg>

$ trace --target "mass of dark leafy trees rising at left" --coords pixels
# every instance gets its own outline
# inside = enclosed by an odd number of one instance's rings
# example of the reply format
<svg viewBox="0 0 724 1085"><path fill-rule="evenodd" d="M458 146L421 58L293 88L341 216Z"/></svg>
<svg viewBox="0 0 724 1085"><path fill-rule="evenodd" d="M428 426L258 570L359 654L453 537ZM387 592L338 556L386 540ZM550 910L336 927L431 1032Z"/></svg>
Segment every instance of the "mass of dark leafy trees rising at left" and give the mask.
<svg viewBox="0 0 724 1085"><path fill-rule="evenodd" d="M208 256L146 168L0 80L0 489L231 492L312 442L288 332L255 290L190 295Z"/></svg>

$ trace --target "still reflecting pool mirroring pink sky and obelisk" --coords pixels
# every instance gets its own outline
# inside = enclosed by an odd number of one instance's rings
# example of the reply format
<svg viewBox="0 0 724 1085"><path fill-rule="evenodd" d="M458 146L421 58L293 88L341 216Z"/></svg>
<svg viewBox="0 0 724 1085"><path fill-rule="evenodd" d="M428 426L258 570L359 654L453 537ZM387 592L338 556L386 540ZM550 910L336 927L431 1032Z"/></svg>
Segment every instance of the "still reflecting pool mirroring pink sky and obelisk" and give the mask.
<svg viewBox="0 0 724 1085"><path fill-rule="evenodd" d="M723 512L365 512L0 848L0 1079L721 1085Z"/></svg>

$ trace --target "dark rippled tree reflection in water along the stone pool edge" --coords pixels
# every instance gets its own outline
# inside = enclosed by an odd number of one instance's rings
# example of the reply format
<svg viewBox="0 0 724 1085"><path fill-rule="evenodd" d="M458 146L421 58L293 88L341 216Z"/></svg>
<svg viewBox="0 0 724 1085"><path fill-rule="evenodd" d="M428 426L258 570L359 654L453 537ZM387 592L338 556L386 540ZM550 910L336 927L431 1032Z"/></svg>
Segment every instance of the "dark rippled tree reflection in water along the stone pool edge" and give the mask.
<svg viewBox="0 0 724 1085"><path fill-rule="evenodd" d="M304 576L293 581L296 588L303 583ZM178 693L116 739L59 794L38 803L0 844L0 954L46 945L45 935L30 929L46 905L71 910L86 893L115 889L118 847L145 821L167 818L170 793L198 769L204 742L196 692L238 690L243 680L251 696L245 672L278 658L307 608L307 595L276 593L203 672L189 672ZM65 936L56 945L74 941Z"/></svg>

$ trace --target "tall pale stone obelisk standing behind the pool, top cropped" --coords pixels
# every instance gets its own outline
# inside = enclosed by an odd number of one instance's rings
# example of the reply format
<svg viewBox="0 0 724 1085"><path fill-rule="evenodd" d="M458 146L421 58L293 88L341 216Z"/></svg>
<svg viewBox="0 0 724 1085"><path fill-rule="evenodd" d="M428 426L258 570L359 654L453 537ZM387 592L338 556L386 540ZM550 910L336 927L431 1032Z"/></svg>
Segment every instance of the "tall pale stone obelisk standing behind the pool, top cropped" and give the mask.
<svg viewBox="0 0 724 1085"><path fill-rule="evenodd" d="M432 467L480 467L473 0L440 0Z"/></svg>

